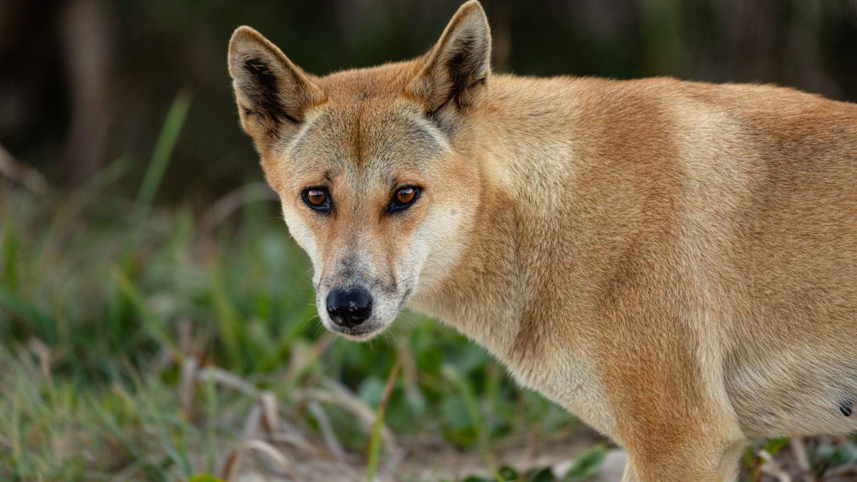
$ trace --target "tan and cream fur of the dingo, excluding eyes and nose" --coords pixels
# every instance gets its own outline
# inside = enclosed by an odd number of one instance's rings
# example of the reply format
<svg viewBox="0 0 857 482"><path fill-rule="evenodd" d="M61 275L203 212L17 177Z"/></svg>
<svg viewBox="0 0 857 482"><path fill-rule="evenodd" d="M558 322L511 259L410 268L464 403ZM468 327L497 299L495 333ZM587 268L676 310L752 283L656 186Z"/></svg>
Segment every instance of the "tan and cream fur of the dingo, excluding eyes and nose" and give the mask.
<svg viewBox="0 0 857 482"><path fill-rule="evenodd" d="M326 77L236 31L239 113L322 322L357 281L377 311L352 338L403 304L438 317L626 447L625 480L730 480L753 437L857 429L857 105L491 75L489 53L475 1L425 56ZM384 214L404 184L423 195Z"/></svg>

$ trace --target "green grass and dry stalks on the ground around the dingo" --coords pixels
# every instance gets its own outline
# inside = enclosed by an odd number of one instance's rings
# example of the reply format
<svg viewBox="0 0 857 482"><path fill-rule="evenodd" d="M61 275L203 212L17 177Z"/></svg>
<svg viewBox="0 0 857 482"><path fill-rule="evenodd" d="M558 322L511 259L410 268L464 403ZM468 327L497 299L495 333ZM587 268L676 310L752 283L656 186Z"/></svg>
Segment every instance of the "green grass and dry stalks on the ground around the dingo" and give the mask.
<svg viewBox="0 0 857 482"><path fill-rule="evenodd" d="M259 184L203 213L153 206L188 108L172 105L137 196L128 158L49 196L0 179L0 479L436 479L463 451L488 479L552 480L504 454L595 443L436 322L406 313L369 344L324 333ZM783 447L764 446L775 461ZM843 439L806 447L819 476L857 462Z"/></svg>

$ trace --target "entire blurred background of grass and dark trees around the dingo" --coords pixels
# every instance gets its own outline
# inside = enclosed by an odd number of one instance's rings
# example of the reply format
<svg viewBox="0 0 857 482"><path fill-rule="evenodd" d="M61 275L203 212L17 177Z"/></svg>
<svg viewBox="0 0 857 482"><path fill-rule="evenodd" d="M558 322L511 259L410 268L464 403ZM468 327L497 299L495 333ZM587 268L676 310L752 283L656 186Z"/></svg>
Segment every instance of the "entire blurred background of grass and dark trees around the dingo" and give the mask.
<svg viewBox="0 0 857 482"><path fill-rule="evenodd" d="M853 1L483 4L499 71L857 99ZM590 476L597 438L438 323L406 313L369 344L325 334L309 262L237 126L225 69L237 25L324 74L422 53L457 6L0 4L0 479L252 466L410 480L446 477L464 452L479 477L552 480L504 467L551 443L594 446L562 479ZM857 463L854 441L800 443L823 480ZM760 443L744 477L762 477L759 450L778 460L794 447Z"/></svg>

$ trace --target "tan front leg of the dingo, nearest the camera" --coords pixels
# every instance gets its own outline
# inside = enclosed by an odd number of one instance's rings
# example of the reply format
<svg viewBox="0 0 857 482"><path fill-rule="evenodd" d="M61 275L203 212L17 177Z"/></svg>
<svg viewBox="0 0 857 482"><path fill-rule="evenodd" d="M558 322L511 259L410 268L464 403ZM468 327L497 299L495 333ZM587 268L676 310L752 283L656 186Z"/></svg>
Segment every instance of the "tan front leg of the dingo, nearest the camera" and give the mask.
<svg viewBox="0 0 857 482"><path fill-rule="evenodd" d="M614 435L629 456L623 481L732 481L746 437L726 394L720 357L704 351L716 342L697 340L689 323L662 328L669 317L656 319L622 323L627 336L608 340L611 358L601 365Z"/></svg>

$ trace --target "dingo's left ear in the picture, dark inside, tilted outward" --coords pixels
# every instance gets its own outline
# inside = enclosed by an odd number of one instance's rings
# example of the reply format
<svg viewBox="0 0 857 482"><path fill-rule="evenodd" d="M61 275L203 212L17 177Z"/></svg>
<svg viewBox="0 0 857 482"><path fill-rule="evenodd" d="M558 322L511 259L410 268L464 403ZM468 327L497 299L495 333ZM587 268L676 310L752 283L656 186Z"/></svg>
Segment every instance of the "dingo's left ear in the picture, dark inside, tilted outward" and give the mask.
<svg viewBox="0 0 857 482"><path fill-rule="evenodd" d="M232 33L229 73L241 125L261 154L293 135L307 107L325 99L309 75L250 27Z"/></svg>

